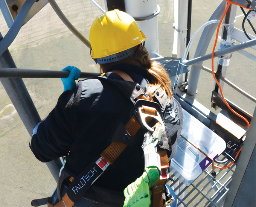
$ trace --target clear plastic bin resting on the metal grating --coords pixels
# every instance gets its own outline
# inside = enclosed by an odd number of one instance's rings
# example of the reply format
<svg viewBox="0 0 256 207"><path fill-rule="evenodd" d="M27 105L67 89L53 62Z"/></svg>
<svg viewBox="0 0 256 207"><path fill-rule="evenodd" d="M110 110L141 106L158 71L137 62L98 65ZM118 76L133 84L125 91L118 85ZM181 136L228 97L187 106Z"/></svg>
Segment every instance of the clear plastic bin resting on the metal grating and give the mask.
<svg viewBox="0 0 256 207"><path fill-rule="evenodd" d="M184 120L181 135L215 160L225 150L225 141L187 111L182 112ZM179 137L170 172L189 186L211 163L198 149Z"/></svg>

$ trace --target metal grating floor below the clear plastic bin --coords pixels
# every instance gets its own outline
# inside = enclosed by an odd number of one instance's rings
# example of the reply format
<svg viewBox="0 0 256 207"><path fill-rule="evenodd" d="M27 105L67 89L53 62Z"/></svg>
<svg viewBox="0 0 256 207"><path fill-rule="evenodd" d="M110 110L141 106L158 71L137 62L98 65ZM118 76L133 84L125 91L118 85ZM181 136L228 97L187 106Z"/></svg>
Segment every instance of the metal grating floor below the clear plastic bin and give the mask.
<svg viewBox="0 0 256 207"><path fill-rule="evenodd" d="M226 158L224 155L221 157ZM231 161L218 166L224 167ZM216 168L216 179L213 180L212 166L209 166L190 186L185 186L178 179L169 181L168 184L177 195L177 207L222 207L234 170L235 164L227 169ZM175 179L174 175L171 177Z"/></svg>

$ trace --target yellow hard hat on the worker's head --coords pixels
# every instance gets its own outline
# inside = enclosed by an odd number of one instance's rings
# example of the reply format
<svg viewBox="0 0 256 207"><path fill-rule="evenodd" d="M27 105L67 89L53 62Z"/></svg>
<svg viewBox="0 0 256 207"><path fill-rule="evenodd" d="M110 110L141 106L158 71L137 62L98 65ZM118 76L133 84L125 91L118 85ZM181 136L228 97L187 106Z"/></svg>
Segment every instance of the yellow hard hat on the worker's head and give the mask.
<svg viewBox="0 0 256 207"><path fill-rule="evenodd" d="M91 58L102 64L116 62L131 56L145 40L133 17L118 9L108 11L91 25Z"/></svg>

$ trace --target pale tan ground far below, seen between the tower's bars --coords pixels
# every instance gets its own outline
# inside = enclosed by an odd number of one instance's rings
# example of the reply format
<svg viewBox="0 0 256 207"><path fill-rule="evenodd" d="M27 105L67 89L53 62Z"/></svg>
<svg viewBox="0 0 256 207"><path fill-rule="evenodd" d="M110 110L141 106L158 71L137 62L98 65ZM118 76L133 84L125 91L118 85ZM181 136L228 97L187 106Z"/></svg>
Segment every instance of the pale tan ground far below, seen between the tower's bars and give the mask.
<svg viewBox="0 0 256 207"><path fill-rule="evenodd" d="M86 37L89 37L90 25L102 12L90 0L56 0L70 22ZM96 0L104 8L104 0ZM221 0L209 2L200 0L192 5L192 34L205 23ZM172 51L174 23L173 1L158 0L161 12L158 15L159 53L170 56ZM240 15L238 11L237 15ZM241 19L236 27L241 27ZM248 32L251 30L247 28ZM0 32L8 32L0 12ZM193 57L198 38L191 49ZM212 45L208 53L211 52ZM20 30L17 38L9 47L18 68L41 70L61 70L74 65L82 72L99 72L99 68L90 58L88 48L76 38L59 20L53 9L47 4ZM254 52L254 55L255 52ZM205 62L210 67L209 61ZM246 66L245 66L246 65ZM238 53L233 54L227 78L239 87L256 96L255 62L246 60ZM55 106L63 87L59 79L23 79L37 110L43 119ZM209 84L210 83L210 84ZM210 108L210 96L213 88L212 77L201 72L198 83L197 99ZM224 88L227 98L253 114L255 104L245 100L231 88ZM38 161L29 149L30 136L21 122L11 100L0 85L0 206L30 206L32 199L50 196L56 187L46 164ZM5 108L6 107L6 108Z"/></svg>

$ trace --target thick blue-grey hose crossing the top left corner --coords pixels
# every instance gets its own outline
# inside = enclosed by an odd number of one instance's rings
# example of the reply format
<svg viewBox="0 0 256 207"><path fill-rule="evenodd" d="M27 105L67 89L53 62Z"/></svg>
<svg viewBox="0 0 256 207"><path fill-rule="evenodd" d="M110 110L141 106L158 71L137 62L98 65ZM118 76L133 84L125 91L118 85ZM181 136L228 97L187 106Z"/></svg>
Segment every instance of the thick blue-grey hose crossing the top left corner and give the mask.
<svg viewBox="0 0 256 207"><path fill-rule="evenodd" d="M36 0L26 0L26 2L21 7L18 12L17 17L15 18L11 28L6 33L5 37L0 40L0 55L5 52L5 50L12 44L18 32L20 31L21 26L29 12L30 8L33 6Z"/></svg>

